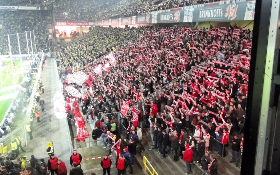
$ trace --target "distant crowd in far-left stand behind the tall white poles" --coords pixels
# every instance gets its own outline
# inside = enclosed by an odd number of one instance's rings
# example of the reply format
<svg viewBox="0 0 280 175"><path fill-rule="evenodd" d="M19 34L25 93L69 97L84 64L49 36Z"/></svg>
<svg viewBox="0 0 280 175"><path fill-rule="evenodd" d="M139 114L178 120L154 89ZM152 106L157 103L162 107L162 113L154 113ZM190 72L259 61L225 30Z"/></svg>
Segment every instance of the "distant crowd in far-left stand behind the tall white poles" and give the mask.
<svg viewBox="0 0 280 175"><path fill-rule="evenodd" d="M10 37L12 54L19 54L17 33L19 33L21 54L27 54L25 31L27 31L29 52L31 52L29 31L31 31L32 35L33 50L35 50L33 30L35 33L36 47L47 48L48 28L51 26L51 15L49 11L0 11L0 20L2 21L2 29L0 30L0 54L9 54L8 35Z"/></svg>

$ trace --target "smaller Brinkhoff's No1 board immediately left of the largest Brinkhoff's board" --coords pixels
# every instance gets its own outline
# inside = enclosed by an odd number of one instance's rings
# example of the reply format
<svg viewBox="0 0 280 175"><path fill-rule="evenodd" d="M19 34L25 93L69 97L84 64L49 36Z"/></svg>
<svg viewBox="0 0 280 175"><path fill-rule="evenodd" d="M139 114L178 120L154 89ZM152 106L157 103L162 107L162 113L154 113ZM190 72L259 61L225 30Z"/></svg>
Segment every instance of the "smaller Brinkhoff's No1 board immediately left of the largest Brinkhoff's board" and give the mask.
<svg viewBox="0 0 280 175"><path fill-rule="evenodd" d="M157 23L177 23L183 22L184 11L172 11L158 14Z"/></svg>

